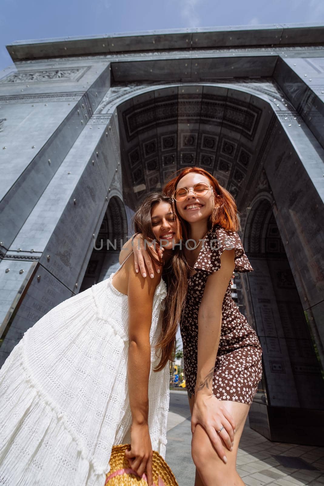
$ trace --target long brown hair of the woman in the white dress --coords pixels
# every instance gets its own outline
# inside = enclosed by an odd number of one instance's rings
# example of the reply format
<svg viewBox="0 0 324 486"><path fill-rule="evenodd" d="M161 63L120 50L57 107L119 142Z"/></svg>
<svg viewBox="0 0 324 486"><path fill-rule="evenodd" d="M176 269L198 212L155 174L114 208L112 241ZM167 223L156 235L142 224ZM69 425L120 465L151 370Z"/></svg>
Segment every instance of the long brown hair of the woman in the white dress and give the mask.
<svg viewBox="0 0 324 486"><path fill-rule="evenodd" d="M146 196L132 216L135 232L142 233L143 238L147 241L156 239L152 227L151 212L152 208L161 202L169 203L172 207L171 197L166 196L162 192L152 192ZM153 256L149 245L146 245L146 250L152 260L159 263L159 260ZM187 295L187 278L183 278L186 272L186 260L182 252L179 251L179 247L176 246L168 267L163 268L162 272L162 276L166 280L167 296L162 314L161 332L155 346L156 351L160 353L160 361L154 368L154 371L161 371L169 360L174 359L178 323L181 319Z"/></svg>

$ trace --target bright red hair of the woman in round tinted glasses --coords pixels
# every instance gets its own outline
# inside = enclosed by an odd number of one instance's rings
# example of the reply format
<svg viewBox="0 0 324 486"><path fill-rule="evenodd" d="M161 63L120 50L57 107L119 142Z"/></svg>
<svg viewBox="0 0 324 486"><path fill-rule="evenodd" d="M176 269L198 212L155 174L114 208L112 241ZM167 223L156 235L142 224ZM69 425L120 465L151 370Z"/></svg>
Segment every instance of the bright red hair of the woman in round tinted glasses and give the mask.
<svg viewBox="0 0 324 486"><path fill-rule="evenodd" d="M219 182L217 181L217 179L215 179L215 177L213 177L209 172L205 171L205 169L202 169L200 167L186 167L185 169L180 169L179 174L166 183L166 185L163 188L163 192L169 197L172 197L174 191L177 188L178 182L182 179L182 177L191 173L201 174L209 179L211 186L214 190L213 193L214 203L219 203L218 207L216 207L215 204L215 208L211 213L211 218L210 218L211 227L214 226L215 224L218 224L226 230L238 231L240 229L240 223L238 219L236 202L233 196L224 187L222 187L219 184ZM217 194L217 196L215 196L215 194ZM178 216L177 217L178 237L179 238L186 237L187 235L184 235L183 233L188 234L189 226L183 220L181 220L182 225L178 223L179 215L177 211L177 206L174 203L173 203L173 210L174 213Z"/></svg>

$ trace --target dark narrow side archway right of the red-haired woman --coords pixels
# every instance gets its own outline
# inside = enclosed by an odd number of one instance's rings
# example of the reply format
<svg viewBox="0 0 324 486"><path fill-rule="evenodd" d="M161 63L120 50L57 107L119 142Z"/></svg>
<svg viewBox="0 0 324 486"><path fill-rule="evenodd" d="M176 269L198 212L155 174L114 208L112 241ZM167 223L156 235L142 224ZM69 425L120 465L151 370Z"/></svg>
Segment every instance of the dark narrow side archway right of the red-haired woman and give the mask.
<svg viewBox="0 0 324 486"><path fill-rule="evenodd" d="M307 313L267 198L260 198L249 212L244 247L254 268L248 277L251 315L263 350L259 392L269 405L268 415L260 413L260 407L257 414L250 414L250 426L264 432L271 408L321 410L324 381ZM252 406L253 410L257 408ZM291 434L291 442L297 439L292 431L283 431Z"/></svg>

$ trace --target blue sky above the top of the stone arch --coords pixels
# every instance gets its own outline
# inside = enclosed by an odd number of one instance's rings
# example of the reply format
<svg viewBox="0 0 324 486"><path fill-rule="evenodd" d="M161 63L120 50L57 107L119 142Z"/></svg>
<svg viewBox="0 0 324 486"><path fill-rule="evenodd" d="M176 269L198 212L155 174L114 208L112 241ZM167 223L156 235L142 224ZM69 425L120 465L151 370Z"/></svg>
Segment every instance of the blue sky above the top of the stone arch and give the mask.
<svg viewBox="0 0 324 486"><path fill-rule="evenodd" d="M324 0L2 0L0 69L15 40L296 22L324 25Z"/></svg>

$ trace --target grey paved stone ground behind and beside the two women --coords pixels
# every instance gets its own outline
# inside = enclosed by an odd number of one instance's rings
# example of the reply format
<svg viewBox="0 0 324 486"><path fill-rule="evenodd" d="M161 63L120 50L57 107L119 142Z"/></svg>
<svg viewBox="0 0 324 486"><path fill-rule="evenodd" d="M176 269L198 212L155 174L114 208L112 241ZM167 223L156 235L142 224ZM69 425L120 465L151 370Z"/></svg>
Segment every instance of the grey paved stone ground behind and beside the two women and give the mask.
<svg viewBox="0 0 324 486"><path fill-rule="evenodd" d="M170 392L166 461L179 486L194 486L187 394ZM324 486L324 447L271 442L245 425L237 470L247 486Z"/></svg>

